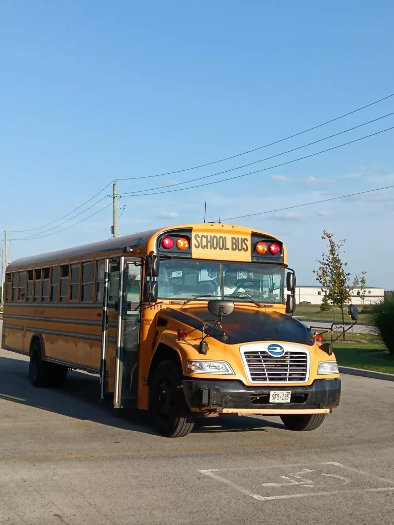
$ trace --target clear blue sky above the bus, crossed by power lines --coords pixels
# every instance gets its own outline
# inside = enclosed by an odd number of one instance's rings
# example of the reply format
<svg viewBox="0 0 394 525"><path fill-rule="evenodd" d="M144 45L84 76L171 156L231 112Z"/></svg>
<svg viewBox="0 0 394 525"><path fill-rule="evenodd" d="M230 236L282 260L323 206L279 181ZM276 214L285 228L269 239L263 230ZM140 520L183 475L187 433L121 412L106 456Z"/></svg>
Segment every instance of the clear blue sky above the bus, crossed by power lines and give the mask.
<svg viewBox="0 0 394 525"><path fill-rule="evenodd" d="M51 222L113 178L176 171L241 153L389 95L393 16L389 1L3 1L1 232ZM231 169L392 111L394 97L237 159L120 181L118 193ZM392 125L394 116L229 176ZM213 220L394 184L393 139L391 130L227 183L123 197L119 232L199 222L204 201ZM106 199L50 232L9 231L9 237L55 233L109 204ZM279 236L299 284L315 282L312 269L325 248L320 234L326 228L347 239L344 257L353 274L366 270L369 286L392 289L393 203L394 188L234 222ZM108 238L111 213L109 207L64 232L13 240L10 256Z"/></svg>

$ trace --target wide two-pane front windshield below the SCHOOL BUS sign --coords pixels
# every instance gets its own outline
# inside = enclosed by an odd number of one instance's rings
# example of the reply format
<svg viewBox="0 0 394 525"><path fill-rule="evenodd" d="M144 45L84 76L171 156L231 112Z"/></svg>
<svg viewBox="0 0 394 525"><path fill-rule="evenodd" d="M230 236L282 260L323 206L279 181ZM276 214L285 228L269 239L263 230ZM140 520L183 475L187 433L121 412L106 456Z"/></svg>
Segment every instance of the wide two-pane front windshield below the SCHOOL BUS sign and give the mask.
<svg viewBox="0 0 394 525"><path fill-rule="evenodd" d="M283 302L283 275L284 268L276 265L161 259L159 298L237 296L235 300L247 301L249 296L258 302Z"/></svg>

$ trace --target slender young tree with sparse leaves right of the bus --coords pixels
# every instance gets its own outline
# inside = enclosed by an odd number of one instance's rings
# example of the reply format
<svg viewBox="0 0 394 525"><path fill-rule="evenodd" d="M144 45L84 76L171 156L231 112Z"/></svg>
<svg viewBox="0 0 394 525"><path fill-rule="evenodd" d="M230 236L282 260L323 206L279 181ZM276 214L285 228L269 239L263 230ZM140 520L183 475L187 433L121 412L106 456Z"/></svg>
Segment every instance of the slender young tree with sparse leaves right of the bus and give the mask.
<svg viewBox="0 0 394 525"><path fill-rule="evenodd" d="M345 322L344 307L351 301L353 289L359 283L359 277L355 277L352 282L350 272L346 271L347 262L340 258L340 249L344 246L346 239L334 240L334 234L326 230L323 231L323 240L328 240L328 253L323 254L322 260L317 261L319 268L313 270L316 280L326 291L326 297L333 304L338 304L342 312L342 322ZM345 341L345 331L343 339Z"/></svg>

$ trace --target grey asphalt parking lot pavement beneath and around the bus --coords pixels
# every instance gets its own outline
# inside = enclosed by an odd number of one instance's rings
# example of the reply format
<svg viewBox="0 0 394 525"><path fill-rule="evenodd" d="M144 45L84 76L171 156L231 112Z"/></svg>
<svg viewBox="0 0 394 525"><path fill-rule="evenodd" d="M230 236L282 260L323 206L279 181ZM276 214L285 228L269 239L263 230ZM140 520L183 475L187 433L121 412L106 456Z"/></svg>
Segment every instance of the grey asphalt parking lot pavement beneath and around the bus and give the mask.
<svg viewBox="0 0 394 525"><path fill-rule="evenodd" d="M100 403L97 376L44 390L27 370L0 350L1 524L393 522L392 382L343 375L314 432L223 416L167 439Z"/></svg>

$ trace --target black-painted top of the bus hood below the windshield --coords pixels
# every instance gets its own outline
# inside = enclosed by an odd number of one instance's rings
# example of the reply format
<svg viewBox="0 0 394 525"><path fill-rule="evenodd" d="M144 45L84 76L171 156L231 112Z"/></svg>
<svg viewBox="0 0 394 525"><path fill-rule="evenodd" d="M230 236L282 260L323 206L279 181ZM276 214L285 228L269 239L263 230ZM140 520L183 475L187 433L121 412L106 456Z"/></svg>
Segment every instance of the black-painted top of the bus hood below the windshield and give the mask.
<svg viewBox="0 0 394 525"><path fill-rule="evenodd" d="M166 308L162 313L198 330L202 329L202 321L206 321L211 328L215 324L214 317L201 307L189 307L187 310ZM226 344L283 341L312 346L315 342L312 331L292 317L278 312L265 313L257 308L256 310L242 309L238 304L229 316L222 319L221 325L227 335L226 340L223 340L223 332L219 328L215 328L212 332L211 328L208 328L206 332Z"/></svg>

